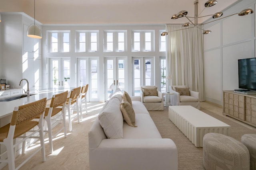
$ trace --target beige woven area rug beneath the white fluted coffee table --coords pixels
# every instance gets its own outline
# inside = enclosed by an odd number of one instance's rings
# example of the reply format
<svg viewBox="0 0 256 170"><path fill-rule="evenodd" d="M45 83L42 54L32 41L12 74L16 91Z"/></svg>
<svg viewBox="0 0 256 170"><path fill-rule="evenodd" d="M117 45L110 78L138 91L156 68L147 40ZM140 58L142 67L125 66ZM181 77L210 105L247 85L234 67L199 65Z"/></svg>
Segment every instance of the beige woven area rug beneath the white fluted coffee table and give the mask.
<svg viewBox="0 0 256 170"><path fill-rule="evenodd" d="M256 134L256 130L249 129L236 123L236 120L228 119L202 108L201 111L223 121L231 126L230 137L241 141L242 135L246 133ZM160 111L149 111L162 138L170 138L174 141L178 149L178 169L179 170L204 170L203 148L197 148L194 144L170 121L168 118L168 108Z"/></svg>

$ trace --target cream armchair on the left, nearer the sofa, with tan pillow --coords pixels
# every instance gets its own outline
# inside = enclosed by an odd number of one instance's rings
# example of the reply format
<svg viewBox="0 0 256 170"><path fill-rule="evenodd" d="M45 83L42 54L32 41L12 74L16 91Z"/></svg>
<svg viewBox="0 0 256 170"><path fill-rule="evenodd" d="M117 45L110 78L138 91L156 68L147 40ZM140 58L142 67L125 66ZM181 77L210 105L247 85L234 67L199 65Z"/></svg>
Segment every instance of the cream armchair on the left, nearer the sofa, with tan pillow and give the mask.
<svg viewBox="0 0 256 170"><path fill-rule="evenodd" d="M148 111L164 110L163 94L157 86L140 86L140 96Z"/></svg>

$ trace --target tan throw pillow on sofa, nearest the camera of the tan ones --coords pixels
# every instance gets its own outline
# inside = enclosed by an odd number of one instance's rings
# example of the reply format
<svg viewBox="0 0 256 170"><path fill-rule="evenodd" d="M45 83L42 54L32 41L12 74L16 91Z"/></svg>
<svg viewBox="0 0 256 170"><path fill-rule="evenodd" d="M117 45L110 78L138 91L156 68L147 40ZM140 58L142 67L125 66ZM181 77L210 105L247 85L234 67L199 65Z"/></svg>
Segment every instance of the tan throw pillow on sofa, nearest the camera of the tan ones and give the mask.
<svg viewBox="0 0 256 170"><path fill-rule="evenodd" d="M126 100L122 100L122 103L120 104L120 110L122 111L124 120L129 126L137 127L135 126L135 112L132 106L127 102Z"/></svg>

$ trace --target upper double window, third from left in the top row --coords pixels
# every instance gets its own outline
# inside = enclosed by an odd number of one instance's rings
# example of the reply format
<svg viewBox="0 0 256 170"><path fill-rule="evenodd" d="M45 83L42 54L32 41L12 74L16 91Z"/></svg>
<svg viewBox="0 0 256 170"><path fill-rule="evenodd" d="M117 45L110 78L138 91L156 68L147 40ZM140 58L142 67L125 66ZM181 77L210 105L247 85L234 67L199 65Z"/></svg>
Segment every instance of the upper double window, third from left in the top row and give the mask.
<svg viewBox="0 0 256 170"><path fill-rule="evenodd" d="M105 52L126 51L126 32L105 31L104 51Z"/></svg>

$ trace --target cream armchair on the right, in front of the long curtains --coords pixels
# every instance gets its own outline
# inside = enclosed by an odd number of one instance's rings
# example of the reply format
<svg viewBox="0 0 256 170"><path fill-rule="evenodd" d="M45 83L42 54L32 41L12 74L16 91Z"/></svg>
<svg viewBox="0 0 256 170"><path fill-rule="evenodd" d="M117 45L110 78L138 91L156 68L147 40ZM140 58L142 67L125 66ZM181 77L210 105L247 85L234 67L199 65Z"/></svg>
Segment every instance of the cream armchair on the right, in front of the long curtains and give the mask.
<svg viewBox="0 0 256 170"><path fill-rule="evenodd" d="M184 89L184 88L188 88L188 87L187 86L170 86L170 93L174 93L171 96L172 97L172 99L171 99L172 106L190 105L190 106L193 106L200 110L199 92L189 90L189 96L188 95L180 95L180 93L177 92L176 88ZM179 89L179 90L182 90L182 89Z"/></svg>

